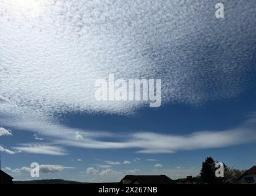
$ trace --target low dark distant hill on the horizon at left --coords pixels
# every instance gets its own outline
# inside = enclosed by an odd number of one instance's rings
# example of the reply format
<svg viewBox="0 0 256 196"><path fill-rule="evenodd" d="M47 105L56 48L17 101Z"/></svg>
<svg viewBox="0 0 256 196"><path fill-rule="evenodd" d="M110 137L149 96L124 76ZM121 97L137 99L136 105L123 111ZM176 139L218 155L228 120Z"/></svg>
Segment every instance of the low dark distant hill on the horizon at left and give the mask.
<svg viewBox="0 0 256 196"><path fill-rule="evenodd" d="M28 181L14 181L14 184L89 184L65 179L37 179Z"/></svg>

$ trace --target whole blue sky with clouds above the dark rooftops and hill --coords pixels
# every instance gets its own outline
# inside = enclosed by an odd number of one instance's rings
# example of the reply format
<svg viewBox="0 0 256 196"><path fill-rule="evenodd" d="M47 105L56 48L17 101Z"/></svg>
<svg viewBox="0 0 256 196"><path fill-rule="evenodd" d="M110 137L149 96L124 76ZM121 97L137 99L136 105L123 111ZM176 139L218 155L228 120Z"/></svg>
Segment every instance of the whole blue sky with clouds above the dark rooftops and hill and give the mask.
<svg viewBox="0 0 256 196"><path fill-rule="evenodd" d="M256 4L216 18L217 3L1 1L2 170L97 183L255 165ZM110 74L161 79L161 106L95 100Z"/></svg>

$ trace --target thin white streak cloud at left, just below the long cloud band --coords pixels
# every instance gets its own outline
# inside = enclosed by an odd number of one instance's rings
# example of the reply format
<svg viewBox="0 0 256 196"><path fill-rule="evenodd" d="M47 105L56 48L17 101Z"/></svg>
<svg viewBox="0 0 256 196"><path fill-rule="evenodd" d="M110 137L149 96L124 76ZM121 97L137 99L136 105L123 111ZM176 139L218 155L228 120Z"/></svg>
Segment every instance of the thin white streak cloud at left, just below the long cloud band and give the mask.
<svg viewBox="0 0 256 196"><path fill-rule="evenodd" d="M49 154L49 155L66 155L65 149L58 147L58 146L50 146L44 144L34 144L34 143L27 143L23 144L22 146L13 147L18 151L22 151L23 153L33 153L33 154Z"/></svg>

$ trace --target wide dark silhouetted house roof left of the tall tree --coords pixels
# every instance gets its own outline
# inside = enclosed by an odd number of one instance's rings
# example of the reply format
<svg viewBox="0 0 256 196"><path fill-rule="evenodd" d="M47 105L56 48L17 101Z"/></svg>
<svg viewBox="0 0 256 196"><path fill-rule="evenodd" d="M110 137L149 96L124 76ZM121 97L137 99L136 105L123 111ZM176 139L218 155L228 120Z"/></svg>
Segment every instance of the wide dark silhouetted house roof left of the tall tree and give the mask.
<svg viewBox="0 0 256 196"><path fill-rule="evenodd" d="M159 175L159 176L127 175L127 176L124 176L123 179L127 179L127 178L130 179L132 181L132 183L134 183L135 181L138 181L139 183L142 183L142 184L172 184L172 183L174 183L174 181L172 179L170 179L169 177L167 177L166 175ZM122 180L121 180L121 183L122 183Z"/></svg>

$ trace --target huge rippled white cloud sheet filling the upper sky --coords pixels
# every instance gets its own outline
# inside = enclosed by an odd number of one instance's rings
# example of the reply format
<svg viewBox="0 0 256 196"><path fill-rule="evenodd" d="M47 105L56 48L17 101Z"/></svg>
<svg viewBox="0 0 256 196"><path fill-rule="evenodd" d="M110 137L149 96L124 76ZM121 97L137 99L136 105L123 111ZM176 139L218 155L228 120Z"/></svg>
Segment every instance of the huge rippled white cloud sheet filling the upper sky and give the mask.
<svg viewBox="0 0 256 196"><path fill-rule="evenodd" d="M39 6L44 14L33 20L28 9L10 6L7 0L0 2L2 10L8 10L1 12L0 24L4 32L0 36L0 115L6 117L0 123L59 135L62 129L51 123L63 113L103 111L126 115L148 107L145 102L95 101L95 80L107 78L110 70L116 78L161 78L163 104L204 104L236 97L251 86L255 73L251 35L255 25L250 20L254 10L249 1L241 7L230 2L229 13L236 26L211 19L195 20L212 15L212 5L201 1L144 4L137 0L133 4L111 4L111 9L108 1L97 5L88 2L87 6L73 2L44 2L47 6ZM202 6L198 8L199 2ZM72 13L66 12L70 5ZM125 15L124 7L129 7ZM200 12L194 12L196 9ZM239 17L232 14L238 12ZM93 13L102 13L102 17ZM137 17L141 14L144 17ZM161 28L155 28L159 24ZM246 31L242 31L244 24ZM234 31L240 36L230 35ZM221 47L216 40L223 40ZM25 118L30 123L23 121ZM85 138L76 131L65 127L63 134L78 141ZM93 147L91 143L88 146Z"/></svg>

